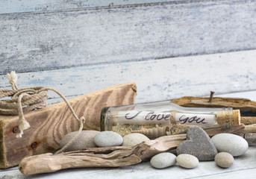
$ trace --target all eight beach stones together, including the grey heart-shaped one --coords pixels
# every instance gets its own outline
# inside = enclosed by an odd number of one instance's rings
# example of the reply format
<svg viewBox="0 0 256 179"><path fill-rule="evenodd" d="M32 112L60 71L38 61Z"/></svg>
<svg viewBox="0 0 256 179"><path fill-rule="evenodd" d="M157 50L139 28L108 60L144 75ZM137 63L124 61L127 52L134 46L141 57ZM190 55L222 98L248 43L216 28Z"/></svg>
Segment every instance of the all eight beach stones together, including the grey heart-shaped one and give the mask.
<svg viewBox="0 0 256 179"><path fill-rule="evenodd" d="M60 141L60 147L66 145L75 134L76 132L66 134ZM66 151L119 145L134 146L149 140L147 136L139 133L122 137L113 131L81 131ZM152 157L150 164L155 169L175 166L176 163L182 168L193 169L199 165L199 161L214 160L217 166L228 168L233 165L234 157L245 154L248 148L248 142L241 136L216 134L210 139L202 128L193 127L187 131L187 140L178 145L177 157L171 152L163 152Z"/></svg>

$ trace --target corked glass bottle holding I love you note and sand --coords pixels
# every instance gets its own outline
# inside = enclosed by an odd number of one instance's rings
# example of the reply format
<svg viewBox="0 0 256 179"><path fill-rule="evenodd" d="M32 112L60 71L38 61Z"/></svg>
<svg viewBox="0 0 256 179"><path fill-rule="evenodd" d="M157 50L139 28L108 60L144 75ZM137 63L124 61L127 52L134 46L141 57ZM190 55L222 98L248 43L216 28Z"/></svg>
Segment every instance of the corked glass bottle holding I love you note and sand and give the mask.
<svg viewBox="0 0 256 179"><path fill-rule="evenodd" d="M101 131L125 136L141 133L150 139L187 132L191 125L205 130L240 125L240 110L227 108L181 107L169 101L104 107Z"/></svg>

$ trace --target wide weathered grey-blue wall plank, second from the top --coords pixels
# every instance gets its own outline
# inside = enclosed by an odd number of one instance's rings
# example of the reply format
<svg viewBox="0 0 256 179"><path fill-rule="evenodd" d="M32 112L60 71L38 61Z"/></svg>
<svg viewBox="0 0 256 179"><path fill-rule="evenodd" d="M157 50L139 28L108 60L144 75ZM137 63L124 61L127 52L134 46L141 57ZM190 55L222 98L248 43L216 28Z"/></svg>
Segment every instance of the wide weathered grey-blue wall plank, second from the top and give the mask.
<svg viewBox="0 0 256 179"><path fill-rule="evenodd" d="M255 6L212 0L1 14L0 75L255 49Z"/></svg>

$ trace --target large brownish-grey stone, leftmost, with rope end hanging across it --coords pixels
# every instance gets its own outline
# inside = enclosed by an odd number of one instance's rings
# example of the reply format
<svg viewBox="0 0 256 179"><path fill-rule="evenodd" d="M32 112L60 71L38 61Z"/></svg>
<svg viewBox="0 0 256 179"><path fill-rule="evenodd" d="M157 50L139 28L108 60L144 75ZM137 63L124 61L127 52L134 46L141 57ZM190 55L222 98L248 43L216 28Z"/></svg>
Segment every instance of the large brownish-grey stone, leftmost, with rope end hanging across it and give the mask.
<svg viewBox="0 0 256 179"><path fill-rule="evenodd" d="M63 148L77 133L78 132L75 131L63 136L63 138L60 140L60 148ZM99 134L99 131L81 131L75 141L72 142L72 145L66 148L65 151L77 151L83 148L97 147L93 141L97 134Z"/></svg>

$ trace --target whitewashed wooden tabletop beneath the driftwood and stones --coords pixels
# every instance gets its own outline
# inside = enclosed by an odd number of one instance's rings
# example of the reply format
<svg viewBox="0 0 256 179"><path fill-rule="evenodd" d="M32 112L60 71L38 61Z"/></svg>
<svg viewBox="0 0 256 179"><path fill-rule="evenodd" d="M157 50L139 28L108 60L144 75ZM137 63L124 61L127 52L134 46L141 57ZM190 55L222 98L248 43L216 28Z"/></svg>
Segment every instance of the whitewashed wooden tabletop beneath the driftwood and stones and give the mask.
<svg viewBox="0 0 256 179"><path fill-rule="evenodd" d="M220 95L225 97L250 98L256 101L256 91ZM154 169L149 162L119 168L66 169L59 172L25 176L18 167L1 169L0 178L255 178L256 145L249 146L246 154L234 158L234 165L228 169L216 166L214 161L200 162L195 169L183 169L177 164L166 169Z"/></svg>

